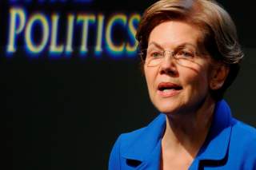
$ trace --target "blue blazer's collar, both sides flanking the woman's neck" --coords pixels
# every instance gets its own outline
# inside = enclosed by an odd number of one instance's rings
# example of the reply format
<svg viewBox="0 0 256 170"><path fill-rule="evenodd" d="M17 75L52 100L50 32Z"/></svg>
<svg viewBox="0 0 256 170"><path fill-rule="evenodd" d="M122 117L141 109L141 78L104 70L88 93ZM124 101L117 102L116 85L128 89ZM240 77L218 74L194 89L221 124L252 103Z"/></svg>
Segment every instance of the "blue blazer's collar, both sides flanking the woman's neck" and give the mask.
<svg viewBox="0 0 256 170"><path fill-rule="evenodd" d="M199 160L222 160L230 143L231 113L226 101L218 101L214 110L214 119L205 143L198 152ZM123 144L122 157L130 160L149 160L152 153L161 152L159 142L162 140L166 128L166 116L160 114L154 121L144 128L141 134L129 144ZM126 141L123 141L124 143ZM161 145L160 145L161 146ZM196 159L197 159L196 158Z"/></svg>

